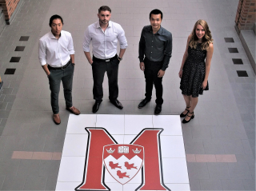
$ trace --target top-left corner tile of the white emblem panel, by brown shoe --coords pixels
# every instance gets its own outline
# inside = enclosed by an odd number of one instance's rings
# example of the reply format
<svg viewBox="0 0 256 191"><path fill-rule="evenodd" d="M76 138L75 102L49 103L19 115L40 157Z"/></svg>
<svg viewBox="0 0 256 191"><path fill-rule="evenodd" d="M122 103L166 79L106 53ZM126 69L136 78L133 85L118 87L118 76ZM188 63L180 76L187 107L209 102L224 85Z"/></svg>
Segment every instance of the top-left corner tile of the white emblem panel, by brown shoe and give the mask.
<svg viewBox="0 0 256 191"><path fill-rule="evenodd" d="M69 121L67 123L66 133L79 133L87 134L86 127L96 126L95 114L70 114Z"/></svg>

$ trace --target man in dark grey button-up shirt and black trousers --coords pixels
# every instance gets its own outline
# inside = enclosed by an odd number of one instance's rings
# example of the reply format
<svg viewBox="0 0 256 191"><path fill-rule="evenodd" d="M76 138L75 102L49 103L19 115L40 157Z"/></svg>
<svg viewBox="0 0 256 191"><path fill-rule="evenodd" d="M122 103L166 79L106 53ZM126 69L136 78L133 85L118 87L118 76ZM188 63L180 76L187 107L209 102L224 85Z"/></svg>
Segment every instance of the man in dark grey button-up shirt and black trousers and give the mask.
<svg viewBox="0 0 256 191"><path fill-rule="evenodd" d="M142 108L151 100L153 84L156 90L156 107L154 114L162 111L162 77L169 65L172 51L172 34L161 26L162 11L150 12L150 26L144 26L139 41L138 58L140 69L146 78L146 98L138 108ZM144 57L145 56L145 57Z"/></svg>

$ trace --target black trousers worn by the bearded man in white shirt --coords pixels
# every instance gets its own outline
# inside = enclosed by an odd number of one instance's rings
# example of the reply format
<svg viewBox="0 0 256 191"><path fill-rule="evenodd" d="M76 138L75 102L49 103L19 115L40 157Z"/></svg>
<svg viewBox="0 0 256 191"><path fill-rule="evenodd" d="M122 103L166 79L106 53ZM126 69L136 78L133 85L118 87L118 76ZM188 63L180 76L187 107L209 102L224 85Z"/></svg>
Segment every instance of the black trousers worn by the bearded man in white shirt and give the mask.
<svg viewBox="0 0 256 191"><path fill-rule="evenodd" d="M109 99L116 100L118 98L118 58L113 58L110 62L95 60L92 64L94 78L94 100L102 101L105 72L109 80Z"/></svg>

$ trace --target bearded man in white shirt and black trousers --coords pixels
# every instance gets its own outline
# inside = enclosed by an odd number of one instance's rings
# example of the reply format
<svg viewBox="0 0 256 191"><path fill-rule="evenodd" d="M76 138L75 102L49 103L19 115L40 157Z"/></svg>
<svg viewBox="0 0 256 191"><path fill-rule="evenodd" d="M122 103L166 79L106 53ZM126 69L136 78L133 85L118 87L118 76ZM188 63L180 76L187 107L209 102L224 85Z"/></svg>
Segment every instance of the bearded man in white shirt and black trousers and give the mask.
<svg viewBox="0 0 256 191"><path fill-rule="evenodd" d="M93 113L98 111L102 102L102 83L105 72L109 79L110 102L118 109L122 109L122 104L118 101L118 65L125 54L127 41L122 26L111 22L110 17L110 7L101 6L98 9L98 22L87 27L83 41L83 50L93 70L95 100ZM120 43L119 56L117 55L118 41ZM90 56L90 42L93 47L93 58Z"/></svg>

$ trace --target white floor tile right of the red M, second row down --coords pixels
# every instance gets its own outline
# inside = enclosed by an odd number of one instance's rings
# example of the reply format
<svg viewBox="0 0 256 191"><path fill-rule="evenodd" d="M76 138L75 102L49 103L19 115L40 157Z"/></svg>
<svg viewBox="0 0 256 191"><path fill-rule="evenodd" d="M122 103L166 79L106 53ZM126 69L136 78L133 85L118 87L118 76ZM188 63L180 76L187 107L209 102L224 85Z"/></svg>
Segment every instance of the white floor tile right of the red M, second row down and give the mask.
<svg viewBox="0 0 256 191"><path fill-rule="evenodd" d="M162 157L185 158L185 148L182 136L161 136Z"/></svg>

